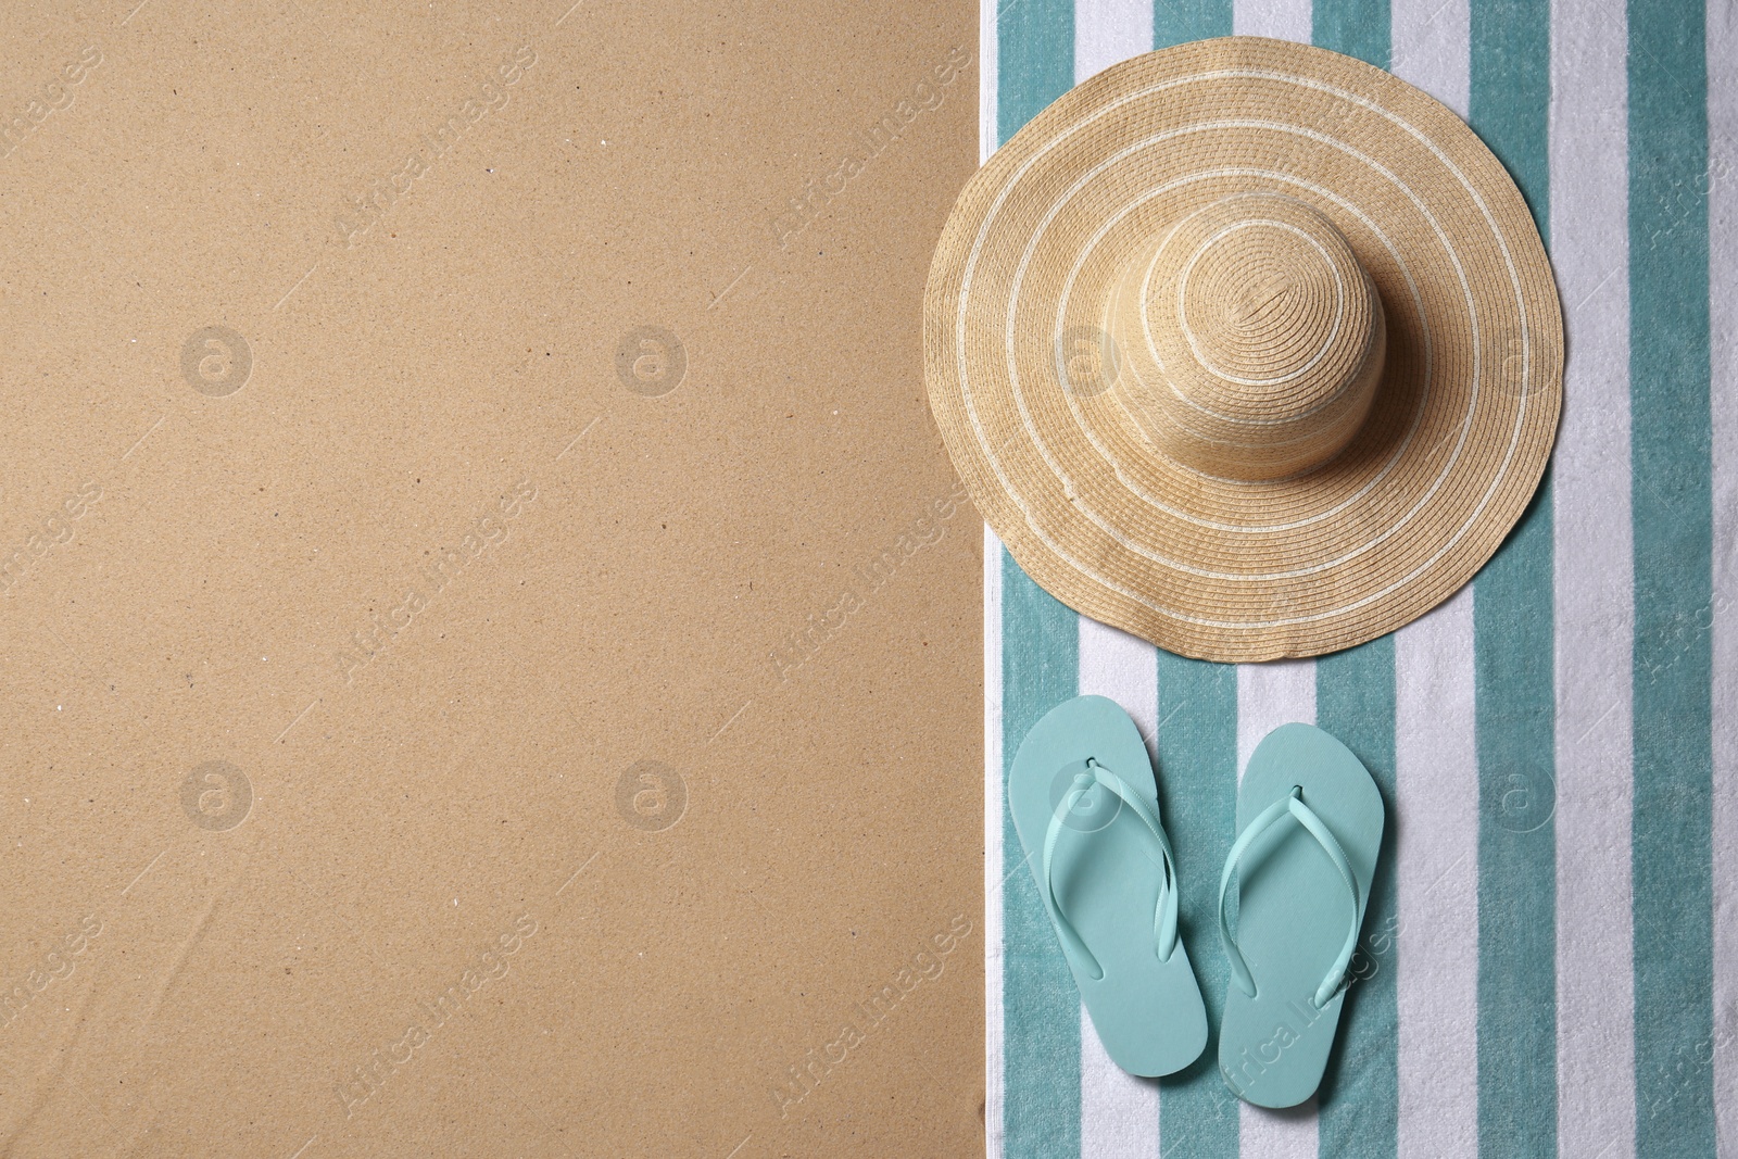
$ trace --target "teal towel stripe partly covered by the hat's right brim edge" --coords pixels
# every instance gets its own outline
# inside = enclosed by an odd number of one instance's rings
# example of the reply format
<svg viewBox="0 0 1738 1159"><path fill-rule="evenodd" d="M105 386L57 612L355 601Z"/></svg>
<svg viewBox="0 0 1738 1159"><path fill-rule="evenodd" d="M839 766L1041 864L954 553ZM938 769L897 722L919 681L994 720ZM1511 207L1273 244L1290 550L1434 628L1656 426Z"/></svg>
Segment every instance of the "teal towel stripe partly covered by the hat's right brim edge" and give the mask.
<svg viewBox="0 0 1738 1159"><path fill-rule="evenodd" d="M1545 229L1549 0L1472 0L1470 123ZM1479 1154L1557 1154L1550 483L1477 575Z"/></svg>

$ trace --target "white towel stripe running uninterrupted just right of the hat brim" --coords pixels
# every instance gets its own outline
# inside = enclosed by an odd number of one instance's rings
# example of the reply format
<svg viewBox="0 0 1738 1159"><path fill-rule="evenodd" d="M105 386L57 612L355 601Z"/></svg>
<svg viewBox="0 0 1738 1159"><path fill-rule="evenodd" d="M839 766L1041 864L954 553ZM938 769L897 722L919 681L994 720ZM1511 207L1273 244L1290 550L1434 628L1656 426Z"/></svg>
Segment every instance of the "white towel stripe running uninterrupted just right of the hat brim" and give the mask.
<svg viewBox="0 0 1738 1159"><path fill-rule="evenodd" d="M1630 912L1634 565L1629 24L1550 12L1550 259L1568 330L1552 485L1557 697L1557 1147L1635 1150Z"/></svg>

